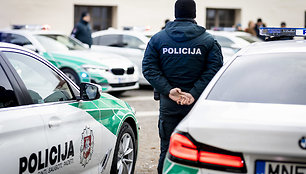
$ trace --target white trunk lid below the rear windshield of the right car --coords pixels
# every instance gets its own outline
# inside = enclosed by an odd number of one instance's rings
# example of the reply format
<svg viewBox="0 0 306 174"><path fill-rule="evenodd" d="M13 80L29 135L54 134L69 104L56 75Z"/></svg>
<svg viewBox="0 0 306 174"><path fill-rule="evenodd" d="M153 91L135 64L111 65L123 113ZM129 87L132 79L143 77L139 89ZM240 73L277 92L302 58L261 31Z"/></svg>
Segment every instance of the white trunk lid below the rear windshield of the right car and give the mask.
<svg viewBox="0 0 306 174"><path fill-rule="evenodd" d="M226 150L305 156L298 145L306 135L305 115L303 105L202 100L177 130Z"/></svg>

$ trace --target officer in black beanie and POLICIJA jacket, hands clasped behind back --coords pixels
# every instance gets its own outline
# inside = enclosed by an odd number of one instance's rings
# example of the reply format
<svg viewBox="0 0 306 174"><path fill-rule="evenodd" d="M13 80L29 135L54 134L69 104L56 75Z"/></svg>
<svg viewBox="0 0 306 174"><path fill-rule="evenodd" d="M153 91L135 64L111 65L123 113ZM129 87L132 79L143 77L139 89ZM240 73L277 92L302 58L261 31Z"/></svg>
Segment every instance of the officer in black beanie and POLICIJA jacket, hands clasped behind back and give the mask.
<svg viewBox="0 0 306 174"><path fill-rule="evenodd" d="M142 62L143 75L161 94L158 173L173 130L223 65L220 45L195 17L193 0L177 0L175 21L151 38Z"/></svg>

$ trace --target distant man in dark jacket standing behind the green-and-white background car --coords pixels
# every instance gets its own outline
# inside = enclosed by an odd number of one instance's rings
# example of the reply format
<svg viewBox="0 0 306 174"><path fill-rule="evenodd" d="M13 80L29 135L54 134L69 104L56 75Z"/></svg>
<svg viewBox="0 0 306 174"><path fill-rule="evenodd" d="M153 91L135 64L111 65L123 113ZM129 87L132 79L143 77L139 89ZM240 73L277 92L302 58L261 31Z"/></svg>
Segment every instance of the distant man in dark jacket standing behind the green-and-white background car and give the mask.
<svg viewBox="0 0 306 174"><path fill-rule="evenodd" d="M76 24L71 32L71 36L79 41L87 44L89 48L92 45L91 27L90 27L90 14L83 12L80 21Z"/></svg>

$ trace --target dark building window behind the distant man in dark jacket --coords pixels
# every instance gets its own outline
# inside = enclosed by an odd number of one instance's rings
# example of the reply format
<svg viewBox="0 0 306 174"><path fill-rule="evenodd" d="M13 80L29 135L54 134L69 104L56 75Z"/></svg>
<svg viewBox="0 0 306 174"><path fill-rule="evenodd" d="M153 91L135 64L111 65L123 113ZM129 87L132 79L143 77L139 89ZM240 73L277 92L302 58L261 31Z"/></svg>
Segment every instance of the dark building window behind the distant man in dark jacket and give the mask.
<svg viewBox="0 0 306 174"><path fill-rule="evenodd" d="M76 25L82 12L89 12L91 17L91 27L93 31L105 30L112 27L113 24L113 8L111 6L74 6L74 25Z"/></svg>

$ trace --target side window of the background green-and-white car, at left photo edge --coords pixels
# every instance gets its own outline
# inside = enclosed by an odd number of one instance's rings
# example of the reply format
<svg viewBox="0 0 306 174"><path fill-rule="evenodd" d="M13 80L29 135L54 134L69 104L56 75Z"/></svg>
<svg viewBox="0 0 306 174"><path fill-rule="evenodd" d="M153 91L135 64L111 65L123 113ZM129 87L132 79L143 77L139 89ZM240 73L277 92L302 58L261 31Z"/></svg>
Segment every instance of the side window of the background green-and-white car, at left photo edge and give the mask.
<svg viewBox="0 0 306 174"><path fill-rule="evenodd" d="M29 39L19 34L1 33L1 42L12 43L19 46L32 45Z"/></svg>

